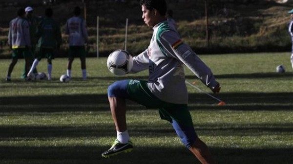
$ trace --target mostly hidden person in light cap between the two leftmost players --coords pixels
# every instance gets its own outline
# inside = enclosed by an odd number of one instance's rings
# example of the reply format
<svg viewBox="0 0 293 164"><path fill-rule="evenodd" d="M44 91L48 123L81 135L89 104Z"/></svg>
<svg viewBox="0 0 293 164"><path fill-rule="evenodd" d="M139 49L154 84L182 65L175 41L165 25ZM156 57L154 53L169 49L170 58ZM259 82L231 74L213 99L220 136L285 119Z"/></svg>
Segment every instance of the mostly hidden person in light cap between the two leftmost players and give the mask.
<svg viewBox="0 0 293 164"><path fill-rule="evenodd" d="M30 32L30 38L31 38L31 43L32 43L32 46L31 46L31 55L30 55L30 66L33 64L33 61L34 61L34 57L35 57L35 52L36 52L36 30L37 30L37 26L38 26L38 23L39 23L39 18L33 16L33 8L28 6L25 8L25 18L28 20L28 24L29 24L29 32ZM23 73L22 73L22 76L21 78L25 78L28 71L29 70L26 70L26 63L24 63L24 69L23 69ZM33 73L37 74L38 71L37 71L37 68L33 71Z"/></svg>

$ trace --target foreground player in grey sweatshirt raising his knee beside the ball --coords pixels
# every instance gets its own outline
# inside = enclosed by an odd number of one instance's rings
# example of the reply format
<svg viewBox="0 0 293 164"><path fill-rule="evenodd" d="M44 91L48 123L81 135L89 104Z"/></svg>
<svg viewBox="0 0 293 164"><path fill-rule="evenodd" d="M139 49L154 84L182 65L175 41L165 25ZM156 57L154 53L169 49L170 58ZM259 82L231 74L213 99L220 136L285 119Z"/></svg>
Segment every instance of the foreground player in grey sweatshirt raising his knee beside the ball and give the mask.
<svg viewBox="0 0 293 164"><path fill-rule="evenodd" d="M148 69L149 78L147 81L116 81L108 87L108 100L117 139L102 156L110 157L133 148L126 128L125 100L130 99L146 108L158 108L161 118L171 123L182 143L202 164L215 164L207 145L200 140L193 128L188 110L184 65L211 91L219 92L220 84L209 67L167 22L165 0L140 0L140 5L142 18L153 29L153 36L148 48L133 57L131 73Z"/></svg>

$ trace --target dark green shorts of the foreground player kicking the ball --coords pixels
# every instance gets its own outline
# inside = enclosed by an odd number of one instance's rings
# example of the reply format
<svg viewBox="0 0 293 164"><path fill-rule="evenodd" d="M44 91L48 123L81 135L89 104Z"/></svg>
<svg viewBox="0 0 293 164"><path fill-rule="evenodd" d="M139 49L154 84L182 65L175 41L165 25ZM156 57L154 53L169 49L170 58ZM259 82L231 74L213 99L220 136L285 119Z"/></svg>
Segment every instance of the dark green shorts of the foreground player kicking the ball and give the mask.
<svg viewBox="0 0 293 164"><path fill-rule="evenodd" d="M127 92L130 99L146 108L158 108L161 119L172 123L174 119L180 125L193 127L187 104L172 104L158 99L147 87L147 81L129 80Z"/></svg>

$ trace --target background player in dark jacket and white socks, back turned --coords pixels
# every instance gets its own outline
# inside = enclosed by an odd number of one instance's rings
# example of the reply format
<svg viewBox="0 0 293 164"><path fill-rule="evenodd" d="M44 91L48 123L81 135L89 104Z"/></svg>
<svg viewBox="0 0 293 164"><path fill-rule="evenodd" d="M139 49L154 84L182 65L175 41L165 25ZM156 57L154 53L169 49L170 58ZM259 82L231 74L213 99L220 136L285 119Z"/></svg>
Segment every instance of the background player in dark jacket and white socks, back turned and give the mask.
<svg viewBox="0 0 293 164"><path fill-rule="evenodd" d="M46 57L48 62L48 80L51 80L53 67L52 59L55 58L54 49L59 49L62 42L60 27L52 18L52 15L53 10L51 8L46 8L45 17L38 26L36 33L38 40L38 54L36 55L33 65L27 74L27 76L31 79L35 79L33 70L37 67L42 57Z"/></svg>

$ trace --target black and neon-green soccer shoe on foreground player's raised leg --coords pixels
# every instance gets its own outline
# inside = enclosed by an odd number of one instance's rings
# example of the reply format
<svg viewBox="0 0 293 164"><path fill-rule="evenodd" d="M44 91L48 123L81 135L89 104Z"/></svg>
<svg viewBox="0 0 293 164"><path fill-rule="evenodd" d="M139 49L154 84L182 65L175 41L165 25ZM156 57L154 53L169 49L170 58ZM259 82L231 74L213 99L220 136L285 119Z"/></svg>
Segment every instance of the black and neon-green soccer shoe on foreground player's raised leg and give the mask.
<svg viewBox="0 0 293 164"><path fill-rule="evenodd" d="M131 141L128 141L126 144L122 144L116 139L113 145L111 146L111 148L102 153L102 157L108 158L123 152L128 153L128 152L131 152L132 149L133 149L133 145Z"/></svg>

